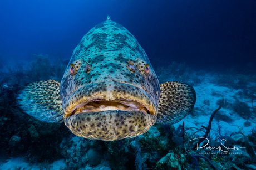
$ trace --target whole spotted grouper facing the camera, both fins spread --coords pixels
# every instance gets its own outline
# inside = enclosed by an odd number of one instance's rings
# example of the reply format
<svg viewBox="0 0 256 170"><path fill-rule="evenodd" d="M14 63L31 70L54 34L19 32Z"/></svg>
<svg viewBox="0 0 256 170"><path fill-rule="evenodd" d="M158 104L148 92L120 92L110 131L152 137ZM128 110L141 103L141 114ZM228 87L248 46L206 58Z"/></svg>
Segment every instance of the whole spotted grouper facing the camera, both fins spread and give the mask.
<svg viewBox="0 0 256 170"><path fill-rule="evenodd" d="M117 141L173 125L193 110L192 86L159 84L144 49L129 30L107 16L73 50L61 83L29 83L17 94L23 112L62 123L76 136Z"/></svg>

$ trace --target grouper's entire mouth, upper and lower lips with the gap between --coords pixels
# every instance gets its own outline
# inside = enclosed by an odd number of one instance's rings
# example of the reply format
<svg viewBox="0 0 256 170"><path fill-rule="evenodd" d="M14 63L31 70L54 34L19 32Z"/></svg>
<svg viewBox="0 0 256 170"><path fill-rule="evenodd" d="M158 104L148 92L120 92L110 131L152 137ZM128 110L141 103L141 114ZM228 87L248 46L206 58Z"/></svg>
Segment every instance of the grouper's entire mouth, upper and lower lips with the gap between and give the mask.
<svg viewBox="0 0 256 170"><path fill-rule="evenodd" d="M156 121L157 102L130 84L94 83L63 100L63 117L77 136L116 141L147 132Z"/></svg>

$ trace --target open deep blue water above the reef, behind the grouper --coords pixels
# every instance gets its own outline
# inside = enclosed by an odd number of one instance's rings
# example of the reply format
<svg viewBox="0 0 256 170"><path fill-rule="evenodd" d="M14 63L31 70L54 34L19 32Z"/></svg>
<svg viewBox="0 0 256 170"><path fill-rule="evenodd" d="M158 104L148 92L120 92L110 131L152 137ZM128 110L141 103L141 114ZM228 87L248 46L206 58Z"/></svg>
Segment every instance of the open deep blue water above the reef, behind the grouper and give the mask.
<svg viewBox="0 0 256 170"><path fill-rule="evenodd" d="M0 62L33 54L70 59L83 35L112 20L137 38L154 67L247 70L256 63L256 1L10 1L0 4Z"/></svg>

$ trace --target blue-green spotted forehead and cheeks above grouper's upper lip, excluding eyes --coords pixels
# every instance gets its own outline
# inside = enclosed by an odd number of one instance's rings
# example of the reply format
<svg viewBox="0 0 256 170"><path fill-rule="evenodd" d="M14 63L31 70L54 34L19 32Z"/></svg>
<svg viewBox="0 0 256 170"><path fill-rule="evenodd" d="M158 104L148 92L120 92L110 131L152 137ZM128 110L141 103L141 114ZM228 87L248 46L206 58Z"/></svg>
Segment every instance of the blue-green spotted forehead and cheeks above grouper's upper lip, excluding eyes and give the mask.
<svg viewBox="0 0 256 170"><path fill-rule="evenodd" d="M117 81L147 91L158 102L160 86L155 71L135 37L122 25L107 20L92 28L73 51L68 66L78 60L82 60L81 68L90 64L91 71L85 74L84 69L78 69L72 76L67 67L61 81L62 100L82 86ZM146 64L150 65L147 76ZM135 65L135 73L129 71L129 65Z"/></svg>

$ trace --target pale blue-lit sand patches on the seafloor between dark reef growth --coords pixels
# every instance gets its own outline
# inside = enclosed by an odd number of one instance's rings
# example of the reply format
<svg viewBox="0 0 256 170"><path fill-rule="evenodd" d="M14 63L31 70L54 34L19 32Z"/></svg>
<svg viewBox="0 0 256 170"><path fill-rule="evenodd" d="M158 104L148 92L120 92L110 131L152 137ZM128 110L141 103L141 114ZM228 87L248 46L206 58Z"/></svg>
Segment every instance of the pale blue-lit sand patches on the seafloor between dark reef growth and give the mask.
<svg viewBox="0 0 256 170"><path fill-rule="evenodd" d="M216 85L214 82L214 80L218 79L218 75L216 74L205 74L204 76L204 80L202 81L202 83L198 84L197 86L194 86L194 89L196 91L196 104L195 104L195 108L198 107L199 111L196 112L196 114L194 114L194 116L192 116L191 114L186 116L183 120L181 120L180 122L176 123L174 126L175 128L178 127L179 125L182 124L182 122L185 122L185 127L189 128L189 127L196 127L196 128L201 128L201 125L204 125L205 127L208 126L208 122L211 116L211 113L218 108L218 105L216 105L216 101L219 99L227 99L228 102L233 103L235 102L234 99L234 95L240 91L240 89L236 90L230 87L225 87L225 86L218 86ZM256 84L250 84L250 86L253 86ZM213 93L217 94L217 95L213 95ZM252 102L249 99L245 99L241 96L237 96L237 98L240 101L243 102L247 102L247 104L250 106L250 108L252 108ZM208 104L205 105L205 100L209 100ZM254 102L254 105L255 102ZM255 106L254 106L255 107ZM218 131L218 126L222 126L221 127L221 133L233 133L233 132L238 132L241 131L242 133L244 133L244 135L248 135L250 133L250 130L252 130L253 127L256 126L256 121L254 121L253 119L249 119L249 122L251 123L251 125L249 127L245 127L243 124L244 122L246 122L247 120L245 120L244 118L240 117L237 113L234 113L231 109L224 109L221 108L219 113L221 114L225 114L228 117L230 117L233 122L232 123L227 123L225 121L216 121L215 119L213 120L213 122L211 123L211 135L214 136L214 131ZM219 114L218 113L218 114ZM218 125L219 124L219 125ZM195 132L196 130L194 128L190 128L190 130L188 130L187 132ZM204 132L197 132L196 133L198 136L203 136ZM243 136L242 135L237 135L235 136L236 140L243 140ZM243 146L236 146L236 147L243 147ZM242 152L244 157L249 157L249 155L247 154L247 152L243 149L239 150L240 152ZM14 158L10 158L7 160L0 160L0 169L6 169L6 170L14 170L14 169L31 169L31 170L37 170L37 169L65 169L66 168L66 164L65 164L65 160L61 159L58 160L54 163L26 163L23 161L23 158L20 157L14 157ZM103 161L103 159L102 159ZM256 168L255 166L252 166L251 168ZM86 169L86 170L90 170L90 169L110 169L109 167L105 167L101 164L99 164L96 167L90 167L88 164L86 167L84 168L80 168L80 169Z"/></svg>

